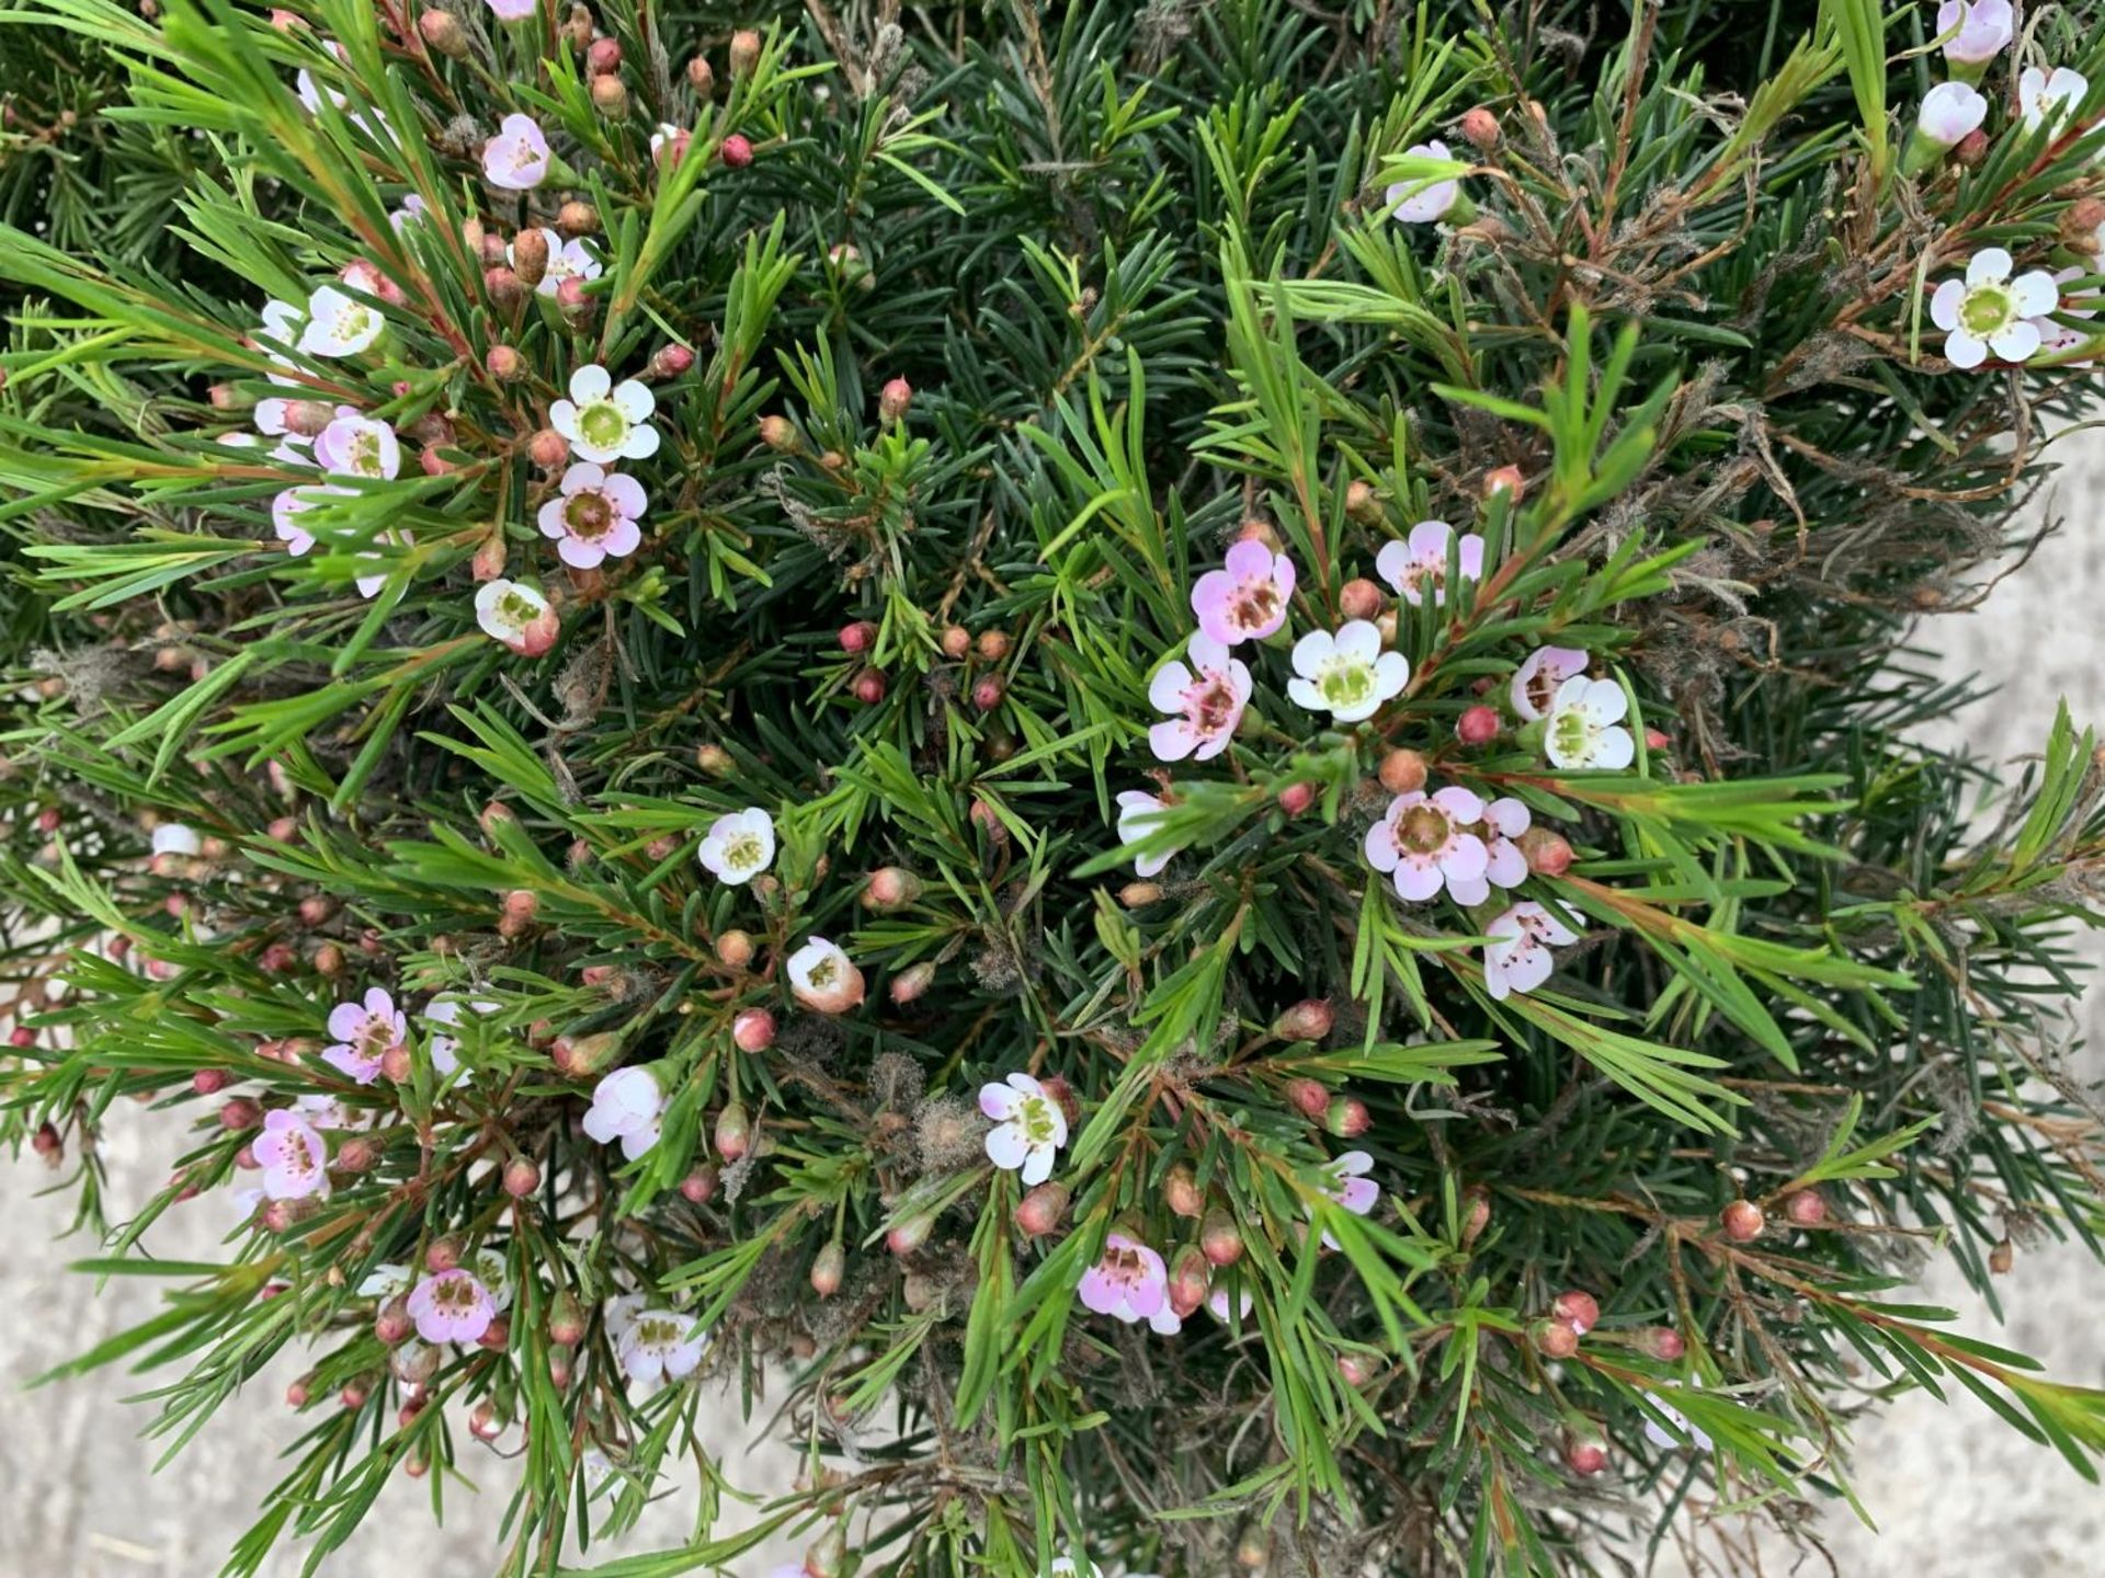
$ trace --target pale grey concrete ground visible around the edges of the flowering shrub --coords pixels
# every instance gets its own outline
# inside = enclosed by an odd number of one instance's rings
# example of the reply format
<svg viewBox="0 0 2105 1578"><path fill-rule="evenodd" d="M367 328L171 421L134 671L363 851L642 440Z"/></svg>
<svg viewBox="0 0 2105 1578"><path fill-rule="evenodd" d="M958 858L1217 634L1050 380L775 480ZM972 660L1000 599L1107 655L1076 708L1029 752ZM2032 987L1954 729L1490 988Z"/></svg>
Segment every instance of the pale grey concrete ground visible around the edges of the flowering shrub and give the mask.
<svg viewBox="0 0 2105 1578"><path fill-rule="evenodd" d="M2069 515L2067 532L1985 610L1943 619L1922 635L1947 654L1947 673L1983 673L2002 686L1962 724L1972 747L1996 760L2038 747L2057 696L2069 699L2080 722L2105 724L2105 543L2092 528L2105 505L2105 438L2069 440L2067 459L2057 499ZM2086 1031L2105 1044L2105 993L2092 997ZM2105 1073L2094 1048L2088 1067ZM107 1140L112 1210L162 1176L166 1145L149 1117L118 1113ZM97 1290L59 1269L93 1246L55 1241L67 1203L36 1197L44 1182L34 1161L0 1161L8 1201L0 1214L0 1578L208 1578L274 1483L276 1452L295 1435L293 1416L276 1405L295 1365L261 1378L253 1403L223 1410L189 1452L158 1473L158 1445L139 1437L147 1412L122 1401L152 1378L101 1372L23 1391L25 1378L156 1307L147 1281ZM156 1231L152 1248L168 1258L208 1258L221 1225L200 1203ZM1956 1275L1934 1273L1926 1296L1964 1311L1968 1330L1991 1334L1991 1317ZM2065 1380L2105 1384L2099 1267L2071 1250L2021 1252L2004 1296L2006 1342L2040 1355ZM737 1418L733 1397L722 1418L720 1450L735 1483L762 1492L787 1485L794 1454L754 1448L728 1424ZM1869 1422L1859 1443L1859 1494L1884 1532L1873 1536L1846 1509L1827 1517L1833 1572L1844 1578L2076 1578L2105 1570L2105 1496L1972 1401L1947 1410L1924 1395L1903 1399ZM450 1494L442 1530L432 1525L425 1485L389 1485L324 1576L486 1578L509 1477L495 1458L469 1473L484 1494ZM688 1509L688 1498L667 1496L623 1551L680 1544ZM739 1574L760 1578L783 1555L756 1551ZM265 1567L267 1578L297 1572L295 1553ZM1789 1561L1772 1557L1766 1572L1789 1572ZM1827 1567L1812 1561L1800 1572Z"/></svg>

